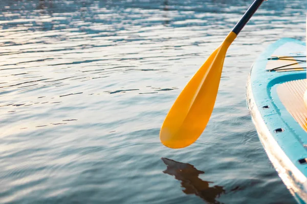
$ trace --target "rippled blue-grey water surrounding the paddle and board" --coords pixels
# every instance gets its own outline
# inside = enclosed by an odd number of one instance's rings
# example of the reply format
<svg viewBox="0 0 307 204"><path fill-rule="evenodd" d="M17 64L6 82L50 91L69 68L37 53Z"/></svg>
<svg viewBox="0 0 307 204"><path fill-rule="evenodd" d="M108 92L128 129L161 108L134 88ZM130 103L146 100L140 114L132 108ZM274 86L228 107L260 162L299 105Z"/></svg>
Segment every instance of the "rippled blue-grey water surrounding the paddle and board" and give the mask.
<svg viewBox="0 0 307 204"><path fill-rule="evenodd" d="M246 107L250 67L305 40L304 1L265 2L230 46L215 109L184 149L174 100L252 1L0 2L1 203L295 203Z"/></svg>

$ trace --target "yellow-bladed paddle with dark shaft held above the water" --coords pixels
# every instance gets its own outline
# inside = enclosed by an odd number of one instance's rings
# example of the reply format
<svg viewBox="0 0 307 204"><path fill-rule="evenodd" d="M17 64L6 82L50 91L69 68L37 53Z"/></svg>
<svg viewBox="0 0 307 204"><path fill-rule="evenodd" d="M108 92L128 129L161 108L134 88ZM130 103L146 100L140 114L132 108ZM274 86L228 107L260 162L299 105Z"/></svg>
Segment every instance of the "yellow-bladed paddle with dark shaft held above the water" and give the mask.
<svg viewBox="0 0 307 204"><path fill-rule="evenodd" d="M186 147L203 133L213 111L227 49L264 1L254 1L182 90L161 127L160 140L165 146Z"/></svg>

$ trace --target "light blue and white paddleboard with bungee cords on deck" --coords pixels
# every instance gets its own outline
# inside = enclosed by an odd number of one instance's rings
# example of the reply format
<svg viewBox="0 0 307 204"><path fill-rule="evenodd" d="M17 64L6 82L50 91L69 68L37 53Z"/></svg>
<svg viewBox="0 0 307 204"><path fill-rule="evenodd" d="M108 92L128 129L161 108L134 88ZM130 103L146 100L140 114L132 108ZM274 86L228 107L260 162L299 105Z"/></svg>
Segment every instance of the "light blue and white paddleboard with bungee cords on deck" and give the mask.
<svg viewBox="0 0 307 204"><path fill-rule="evenodd" d="M246 86L259 139L298 203L307 203L306 84L305 43L282 38L254 62Z"/></svg>

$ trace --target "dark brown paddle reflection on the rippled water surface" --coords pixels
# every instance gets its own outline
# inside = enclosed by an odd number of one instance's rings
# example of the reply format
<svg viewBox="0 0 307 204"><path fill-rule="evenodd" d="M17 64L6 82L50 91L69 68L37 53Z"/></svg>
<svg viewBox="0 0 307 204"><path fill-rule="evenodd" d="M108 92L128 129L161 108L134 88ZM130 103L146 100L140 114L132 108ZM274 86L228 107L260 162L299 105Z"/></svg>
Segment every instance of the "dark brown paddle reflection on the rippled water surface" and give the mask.
<svg viewBox="0 0 307 204"><path fill-rule="evenodd" d="M181 186L185 188L184 193L195 194L209 203L221 203L215 199L225 193L224 188L222 186L209 187L209 183L213 182L203 181L199 178L199 174L205 173L204 171L196 169L191 164L176 162L167 158L161 159L167 166L163 173L174 175L175 179L181 181Z"/></svg>

